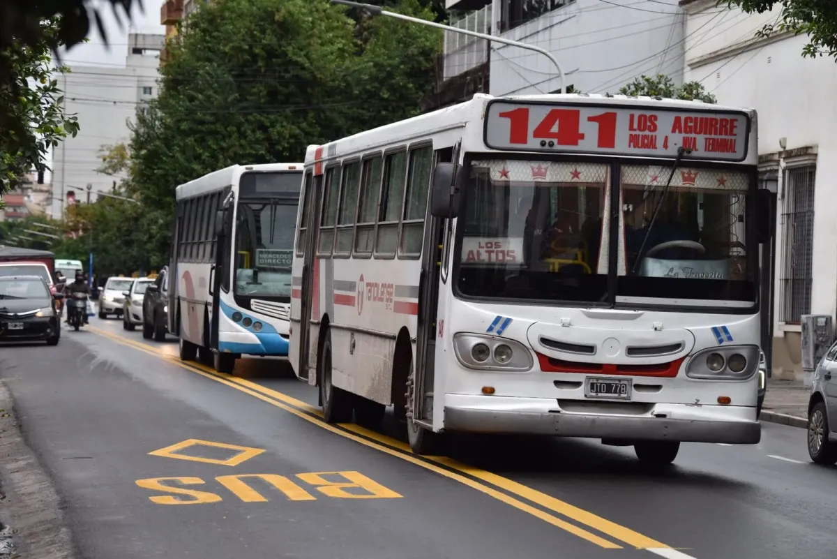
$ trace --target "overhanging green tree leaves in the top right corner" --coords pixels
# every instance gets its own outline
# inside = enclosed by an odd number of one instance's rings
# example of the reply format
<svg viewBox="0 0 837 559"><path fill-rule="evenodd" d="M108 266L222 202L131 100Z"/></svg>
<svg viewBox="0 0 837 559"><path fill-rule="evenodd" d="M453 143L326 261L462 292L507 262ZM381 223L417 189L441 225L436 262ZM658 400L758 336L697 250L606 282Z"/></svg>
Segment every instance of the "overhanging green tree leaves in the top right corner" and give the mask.
<svg viewBox="0 0 837 559"><path fill-rule="evenodd" d="M783 31L808 35L803 56L827 55L837 60L837 6L832 0L727 0L727 6L737 6L745 13L765 13L778 7L778 20L764 25L757 36Z"/></svg>

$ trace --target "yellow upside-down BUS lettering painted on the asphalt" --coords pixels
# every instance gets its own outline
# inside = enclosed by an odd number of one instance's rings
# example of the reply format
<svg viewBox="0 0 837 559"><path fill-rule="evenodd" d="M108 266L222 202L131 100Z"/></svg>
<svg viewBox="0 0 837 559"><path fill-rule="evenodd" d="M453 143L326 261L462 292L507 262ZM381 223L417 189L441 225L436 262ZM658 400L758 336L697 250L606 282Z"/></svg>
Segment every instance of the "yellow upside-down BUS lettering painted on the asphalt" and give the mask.
<svg viewBox="0 0 837 559"><path fill-rule="evenodd" d="M337 480L334 480L339 476ZM333 471L296 474L300 481L311 485L316 491L332 499L402 499L395 491L357 471ZM250 483L260 480L285 495L287 500L317 500L290 478L279 474L233 474L219 475L215 481L239 498L243 503L267 503L269 499L259 493ZM182 485L206 485L198 477L174 476L147 478L134 483L142 489L169 495L150 495L148 500L156 505L207 505L220 503L223 497L208 491L186 489Z"/></svg>

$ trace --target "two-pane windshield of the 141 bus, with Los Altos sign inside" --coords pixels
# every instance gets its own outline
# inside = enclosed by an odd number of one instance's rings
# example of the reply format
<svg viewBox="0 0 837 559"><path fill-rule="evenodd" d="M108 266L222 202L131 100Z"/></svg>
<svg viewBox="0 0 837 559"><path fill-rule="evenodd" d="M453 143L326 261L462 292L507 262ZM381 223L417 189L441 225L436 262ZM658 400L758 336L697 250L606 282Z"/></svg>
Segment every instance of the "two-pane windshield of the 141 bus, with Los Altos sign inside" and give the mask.
<svg viewBox="0 0 837 559"><path fill-rule="evenodd" d="M664 189L670 169L624 165L614 182L609 163L471 162L459 219L460 293L590 305L752 305L749 175L681 165ZM619 223L610 218L612 187L621 197ZM608 274L616 276L615 292Z"/></svg>

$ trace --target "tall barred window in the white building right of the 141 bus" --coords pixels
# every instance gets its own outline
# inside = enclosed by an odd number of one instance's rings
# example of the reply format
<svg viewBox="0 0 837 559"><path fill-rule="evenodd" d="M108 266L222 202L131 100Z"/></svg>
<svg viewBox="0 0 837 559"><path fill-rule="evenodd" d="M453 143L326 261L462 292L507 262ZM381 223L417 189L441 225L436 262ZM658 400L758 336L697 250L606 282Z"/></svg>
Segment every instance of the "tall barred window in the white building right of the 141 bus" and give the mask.
<svg viewBox="0 0 837 559"><path fill-rule="evenodd" d="M814 174L817 167L792 167L784 172L782 266L779 321L799 324L811 310L811 268L814 259Z"/></svg>

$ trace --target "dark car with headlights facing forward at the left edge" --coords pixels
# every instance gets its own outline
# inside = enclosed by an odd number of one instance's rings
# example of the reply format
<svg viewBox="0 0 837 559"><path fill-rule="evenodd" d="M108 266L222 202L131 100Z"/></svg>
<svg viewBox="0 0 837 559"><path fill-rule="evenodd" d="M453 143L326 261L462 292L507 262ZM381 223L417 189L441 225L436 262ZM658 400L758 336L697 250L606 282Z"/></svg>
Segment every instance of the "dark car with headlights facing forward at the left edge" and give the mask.
<svg viewBox="0 0 837 559"><path fill-rule="evenodd" d="M0 341L46 341L57 346L61 336L55 301L64 295L49 292L37 275L0 277Z"/></svg>

